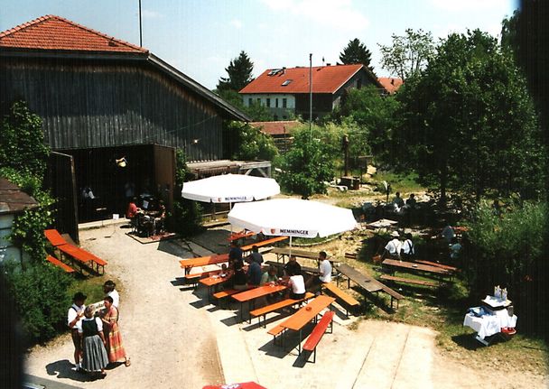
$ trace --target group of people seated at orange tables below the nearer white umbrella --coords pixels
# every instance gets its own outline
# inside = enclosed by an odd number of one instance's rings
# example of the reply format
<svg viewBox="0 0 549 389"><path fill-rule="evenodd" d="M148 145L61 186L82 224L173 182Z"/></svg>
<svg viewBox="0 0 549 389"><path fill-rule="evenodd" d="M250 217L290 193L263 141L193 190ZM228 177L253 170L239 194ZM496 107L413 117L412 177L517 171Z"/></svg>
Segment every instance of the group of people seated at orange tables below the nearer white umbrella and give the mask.
<svg viewBox="0 0 549 389"><path fill-rule="evenodd" d="M244 271L244 262L247 262L247 272ZM249 287L256 287L268 283L280 283L288 288L285 298L301 300L305 293L309 291L319 291L322 282L331 281L331 264L327 259L327 254L321 251L318 256L319 270L318 275L309 277L307 281L303 277L302 266L297 262L295 256L290 255L288 263L284 264L284 274L279 274L275 265L270 265L265 271L262 270L263 255L259 253L256 245L252 246L252 253L243 258L242 249L236 241L231 243L228 253L228 268L223 269L223 273L232 273L230 286L236 290L246 290ZM279 275L281 275L279 277ZM272 300L272 299L271 299Z"/></svg>

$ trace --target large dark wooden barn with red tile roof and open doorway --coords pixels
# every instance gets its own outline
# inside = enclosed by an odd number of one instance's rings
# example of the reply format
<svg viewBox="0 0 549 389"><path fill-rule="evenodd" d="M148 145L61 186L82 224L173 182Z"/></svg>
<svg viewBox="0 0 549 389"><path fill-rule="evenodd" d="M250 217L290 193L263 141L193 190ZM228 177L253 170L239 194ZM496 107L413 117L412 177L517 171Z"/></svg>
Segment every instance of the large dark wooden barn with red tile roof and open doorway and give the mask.
<svg viewBox="0 0 549 389"><path fill-rule="evenodd" d="M51 186L75 221L123 214L132 195L171 206L175 150L219 160L223 122L247 121L150 51L54 15L0 32L0 107L17 99L43 119Z"/></svg>

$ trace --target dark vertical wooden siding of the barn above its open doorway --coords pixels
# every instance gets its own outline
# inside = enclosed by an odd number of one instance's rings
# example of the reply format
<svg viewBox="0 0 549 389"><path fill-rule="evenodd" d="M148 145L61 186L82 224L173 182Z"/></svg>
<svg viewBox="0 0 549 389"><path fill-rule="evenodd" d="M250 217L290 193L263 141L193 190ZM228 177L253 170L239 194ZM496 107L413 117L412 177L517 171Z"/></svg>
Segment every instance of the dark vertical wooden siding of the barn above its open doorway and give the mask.
<svg viewBox="0 0 549 389"><path fill-rule="evenodd" d="M53 150L160 144L189 161L222 156L216 107L148 64L3 58L0 101L15 98L43 118Z"/></svg>

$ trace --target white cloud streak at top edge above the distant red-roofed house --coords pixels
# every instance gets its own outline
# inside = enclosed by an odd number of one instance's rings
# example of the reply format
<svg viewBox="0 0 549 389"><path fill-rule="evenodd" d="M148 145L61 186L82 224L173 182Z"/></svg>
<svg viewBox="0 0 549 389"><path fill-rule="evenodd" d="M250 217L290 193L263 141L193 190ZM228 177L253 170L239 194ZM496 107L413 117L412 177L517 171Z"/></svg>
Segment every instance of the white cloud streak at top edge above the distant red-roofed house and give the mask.
<svg viewBox="0 0 549 389"><path fill-rule="evenodd" d="M353 7L351 0L263 0L272 11L289 13L346 31L361 31L368 27L368 18Z"/></svg>

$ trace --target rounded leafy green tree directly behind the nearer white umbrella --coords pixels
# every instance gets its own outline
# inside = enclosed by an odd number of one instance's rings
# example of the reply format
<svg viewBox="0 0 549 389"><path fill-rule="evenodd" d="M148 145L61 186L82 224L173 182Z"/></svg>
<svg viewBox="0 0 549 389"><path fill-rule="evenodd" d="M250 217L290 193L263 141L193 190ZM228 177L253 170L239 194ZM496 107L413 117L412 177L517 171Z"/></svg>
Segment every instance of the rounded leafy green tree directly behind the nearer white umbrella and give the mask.
<svg viewBox="0 0 549 389"><path fill-rule="evenodd" d="M334 156L338 150L333 139L321 127L308 126L293 131L293 144L281 158L279 182L284 190L308 199L316 193L326 193L324 181L333 179Z"/></svg>

